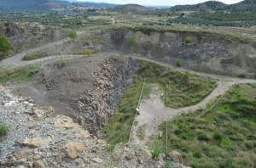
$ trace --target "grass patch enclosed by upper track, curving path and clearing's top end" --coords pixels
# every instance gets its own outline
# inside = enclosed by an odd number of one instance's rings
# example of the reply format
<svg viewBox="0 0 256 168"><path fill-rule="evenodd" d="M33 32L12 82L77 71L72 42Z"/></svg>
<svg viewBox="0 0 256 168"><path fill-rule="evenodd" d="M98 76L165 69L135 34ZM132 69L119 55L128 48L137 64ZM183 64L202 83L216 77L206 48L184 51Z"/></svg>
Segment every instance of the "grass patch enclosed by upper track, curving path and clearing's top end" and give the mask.
<svg viewBox="0 0 256 168"><path fill-rule="evenodd" d="M212 91L216 81L207 76L197 76L189 71L179 72L170 70L158 64L142 62L142 65L135 76L138 79L146 78L147 83L156 83L160 92L165 96L166 102L167 84L167 107L181 108L199 103Z"/></svg>

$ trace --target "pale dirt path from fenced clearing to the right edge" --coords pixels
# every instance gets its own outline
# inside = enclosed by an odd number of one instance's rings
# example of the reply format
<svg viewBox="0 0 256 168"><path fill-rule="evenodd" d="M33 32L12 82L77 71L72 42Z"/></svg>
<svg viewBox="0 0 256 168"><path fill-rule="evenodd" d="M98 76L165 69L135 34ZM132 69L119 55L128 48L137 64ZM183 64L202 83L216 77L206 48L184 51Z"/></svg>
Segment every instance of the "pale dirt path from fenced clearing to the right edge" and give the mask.
<svg viewBox="0 0 256 168"><path fill-rule="evenodd" d="M175 115L188 113L197 109L207 107L207 104L212 102L218 95L223 95L227 92L232 85L239 83L256 83L255 80L238 80L233 81L218 81L218 87L216 87L212 93L202 100L199 104L193 106L172 109L166 108L160 100L160 93L157 86L151 87L152 92L150 98L144 99L139 106L140 115L136 117L136 125L133 126L131 132L131 143L136 146L145 146L150 143L155 137L158 137L158 126L160 122L172 119ZM143 132L143 133L142 133ZM143 137L142 137L143 134ZM152 138L153 137L153 138Z"/></svg>

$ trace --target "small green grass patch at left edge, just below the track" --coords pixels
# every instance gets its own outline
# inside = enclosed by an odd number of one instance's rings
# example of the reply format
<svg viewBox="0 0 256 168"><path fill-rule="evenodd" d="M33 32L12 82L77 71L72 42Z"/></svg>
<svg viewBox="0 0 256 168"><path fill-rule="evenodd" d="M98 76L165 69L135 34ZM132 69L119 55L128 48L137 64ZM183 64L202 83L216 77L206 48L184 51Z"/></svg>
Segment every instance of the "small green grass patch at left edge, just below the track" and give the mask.
<svg viewBox="0 0 256 168"><path fill-rule="evenodd" d="M38 73L38 66L22 67L17 69L1 68L0 82L29 81L36 73Z"/></svg>

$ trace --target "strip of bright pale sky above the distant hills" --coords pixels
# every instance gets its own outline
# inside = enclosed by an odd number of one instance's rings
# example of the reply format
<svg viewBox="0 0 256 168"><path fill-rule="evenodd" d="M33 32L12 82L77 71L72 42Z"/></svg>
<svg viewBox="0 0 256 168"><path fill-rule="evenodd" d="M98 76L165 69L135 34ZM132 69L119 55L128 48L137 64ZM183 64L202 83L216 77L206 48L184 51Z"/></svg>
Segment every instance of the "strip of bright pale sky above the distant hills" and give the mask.
<svg viewBox="0 0 256 168"><path fill-rule="evenodd" d="M207 0L77 0L85 2L96 2L96 3L115 3L115 4L127 4L127 3L136 3L141 5L164 5L164 6L174 6L177 4L196 4L204 3ZM222 3L232 4L239 3L241 0L219 0Z"/></svg>

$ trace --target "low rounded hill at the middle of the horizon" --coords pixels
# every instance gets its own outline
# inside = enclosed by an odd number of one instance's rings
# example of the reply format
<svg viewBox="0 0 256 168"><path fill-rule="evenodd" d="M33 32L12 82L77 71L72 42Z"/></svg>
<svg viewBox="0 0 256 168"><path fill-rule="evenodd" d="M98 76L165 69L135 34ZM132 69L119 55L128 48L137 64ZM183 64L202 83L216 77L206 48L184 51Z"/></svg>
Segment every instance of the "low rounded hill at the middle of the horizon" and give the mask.
<svg viewBox="0 0 256 168"><path fill-rule="evenodd" d="M141 13L148 10L148 8L138 4L125 4L118 5L114 8L108 8L108 11L120 12L120 13Z"/></svg>

